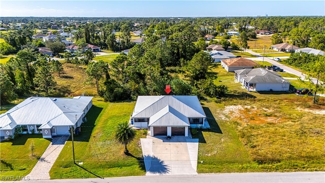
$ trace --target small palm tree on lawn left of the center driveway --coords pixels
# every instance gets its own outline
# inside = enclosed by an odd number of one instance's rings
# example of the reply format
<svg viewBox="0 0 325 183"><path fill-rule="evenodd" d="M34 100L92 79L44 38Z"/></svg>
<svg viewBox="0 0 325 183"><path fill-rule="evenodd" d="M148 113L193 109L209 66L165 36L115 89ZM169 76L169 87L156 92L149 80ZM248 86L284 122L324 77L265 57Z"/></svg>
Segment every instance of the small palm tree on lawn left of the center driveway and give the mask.
<svg viewBox="0 0 325 183"><path fill-rule="evenodd" d="M115 131L115 138L121 143L124 144L124 154L128 153L126 145L130 143L134 137L136 136L136 132L132 129L127 121L119 123L117 125Z"/></svg>

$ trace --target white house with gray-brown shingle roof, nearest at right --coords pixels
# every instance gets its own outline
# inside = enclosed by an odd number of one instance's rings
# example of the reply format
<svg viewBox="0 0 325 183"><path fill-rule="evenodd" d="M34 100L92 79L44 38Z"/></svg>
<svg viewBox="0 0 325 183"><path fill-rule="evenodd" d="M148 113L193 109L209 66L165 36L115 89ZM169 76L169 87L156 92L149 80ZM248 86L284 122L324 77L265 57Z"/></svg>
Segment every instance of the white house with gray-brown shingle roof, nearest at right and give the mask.
<svg viewBox="0 0 325 183"><path fill-rule="evenodd" d="M290 87L281 75L263 68L236 70L235 79L248 91L287 91Z"/></svg>

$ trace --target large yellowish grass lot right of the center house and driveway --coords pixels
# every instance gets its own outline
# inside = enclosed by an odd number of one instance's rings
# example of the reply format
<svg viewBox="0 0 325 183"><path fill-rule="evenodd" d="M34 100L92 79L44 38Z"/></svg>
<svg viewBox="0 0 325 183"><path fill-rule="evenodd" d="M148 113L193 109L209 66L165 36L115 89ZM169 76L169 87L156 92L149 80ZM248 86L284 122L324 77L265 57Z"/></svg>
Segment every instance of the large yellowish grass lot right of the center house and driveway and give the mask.
<svg viewBox="0 0 325 183"><path fill-rule="evenodd" d="M194 136L199 173L325 170L325 121L317 114L325 106L311 96L236 93L203 102L211 130Z"/></svg>

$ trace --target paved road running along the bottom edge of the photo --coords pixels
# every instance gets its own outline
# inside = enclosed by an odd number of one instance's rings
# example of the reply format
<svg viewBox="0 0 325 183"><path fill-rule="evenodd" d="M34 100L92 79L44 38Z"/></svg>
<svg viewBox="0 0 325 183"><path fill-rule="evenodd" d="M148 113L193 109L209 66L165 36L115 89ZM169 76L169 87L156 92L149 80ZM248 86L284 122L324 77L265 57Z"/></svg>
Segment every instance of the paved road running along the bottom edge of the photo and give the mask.
<svg viewBox="0 0 325 183"><path fill-rule="evenodd" d="M27 177L28 178L28 177ZM6 181L10 182L10 181ZM134 183L134 182L325 182L325 172L272 172L272 173L216 173L216 174L198 174L198 175L157 175L157 176L129 176L129 177L111 177L111 178L86 178L86 179L55 179L55 180L30 180L15 182L96 182L96 183Z"/></svg>

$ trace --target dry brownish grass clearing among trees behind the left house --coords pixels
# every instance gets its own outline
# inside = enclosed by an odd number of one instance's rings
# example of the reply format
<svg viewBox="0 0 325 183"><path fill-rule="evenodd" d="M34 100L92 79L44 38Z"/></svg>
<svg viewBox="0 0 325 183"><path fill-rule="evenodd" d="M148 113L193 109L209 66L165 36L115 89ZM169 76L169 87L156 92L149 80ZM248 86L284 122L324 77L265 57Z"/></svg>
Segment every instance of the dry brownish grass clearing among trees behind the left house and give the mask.
<svg viewBox="0 0 325 183"><path fill-rule="evenodd" d="M74 64L62 64L63 74L54 76L58 85L58 96L80 96L82 94L87 96L94 96L97 94L95 84L90 84L87 81L85 69L76 67Z"/></svg>

